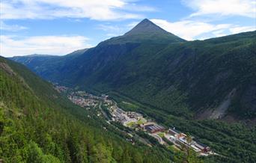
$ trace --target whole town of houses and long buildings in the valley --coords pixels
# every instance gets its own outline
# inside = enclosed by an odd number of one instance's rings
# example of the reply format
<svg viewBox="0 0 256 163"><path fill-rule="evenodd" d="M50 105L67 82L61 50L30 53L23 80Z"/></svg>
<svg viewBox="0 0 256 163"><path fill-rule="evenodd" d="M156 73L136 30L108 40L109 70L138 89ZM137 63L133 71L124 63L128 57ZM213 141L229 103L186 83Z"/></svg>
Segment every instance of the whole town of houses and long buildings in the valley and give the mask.
<svg viewBox="0 0 256 163"><path fill-rule="evenodd" d="M66 93L68 90L71 90L70 88L63 86L55 86L55 89L59 92ZM118 122L129 129L144 132L147 135L156 138L159 144L166 146L172 144L171 146L177 150L182 149L183 147L189 147L200 156L216 154L213 153L207 145L194 141L191 135L188 136L174 127L168 128L162 126L154 120L146 118L135 111L124 111L124 109L118 107L114 100L109 99L109 96L94 96L91 93L86 93L85 91L72 90L67 93L67 97L76 105L80 105L86 109L96 108L98 106L100 111L97 116L103 116L108 123ZM106 109L103 109L103 107ZM106 111L108 111L108 113L106 113ZM129 135L132 136L131 134Z"/></svg>

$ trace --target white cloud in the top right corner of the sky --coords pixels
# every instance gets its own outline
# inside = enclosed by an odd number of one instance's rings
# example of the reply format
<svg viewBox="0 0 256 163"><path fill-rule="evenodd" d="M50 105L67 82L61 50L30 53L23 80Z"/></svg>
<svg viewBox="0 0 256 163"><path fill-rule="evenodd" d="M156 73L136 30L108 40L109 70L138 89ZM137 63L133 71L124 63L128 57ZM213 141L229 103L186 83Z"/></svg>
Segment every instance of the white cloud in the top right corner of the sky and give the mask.
<svg viewBox="0 0 256 163"><path fill-rule="evenodd" d="M255 0L183 0L196 10L191 16L219 14L221 16L248 16L256 17Z"/></svg>

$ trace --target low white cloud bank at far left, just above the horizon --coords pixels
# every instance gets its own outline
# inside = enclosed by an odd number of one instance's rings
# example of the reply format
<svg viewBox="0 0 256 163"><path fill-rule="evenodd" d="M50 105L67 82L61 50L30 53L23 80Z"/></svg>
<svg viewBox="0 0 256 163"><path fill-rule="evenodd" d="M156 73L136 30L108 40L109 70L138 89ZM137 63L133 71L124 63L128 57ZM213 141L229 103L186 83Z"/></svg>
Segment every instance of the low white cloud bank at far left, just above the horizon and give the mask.
<svg viewBox="0 0 256 163"><path fill-rule="evenodd" d="M66 55L91 47L83 36L34 36L19 38L0 36L0 55L5 57L31 54Z"/></svg>

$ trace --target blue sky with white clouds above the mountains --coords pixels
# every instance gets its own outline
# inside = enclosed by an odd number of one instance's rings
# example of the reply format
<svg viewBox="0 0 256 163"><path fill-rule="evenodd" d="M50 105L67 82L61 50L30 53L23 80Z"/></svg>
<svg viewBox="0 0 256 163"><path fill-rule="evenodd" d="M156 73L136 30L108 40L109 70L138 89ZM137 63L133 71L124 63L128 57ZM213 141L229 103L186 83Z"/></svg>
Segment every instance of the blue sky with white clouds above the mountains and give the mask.
<svg viewBox="0 0 256 163"><path fill-rule="evenodd" d="M256 30L255 0L1 0L0 55L66 55L147 18L186 40Z"/></svg>

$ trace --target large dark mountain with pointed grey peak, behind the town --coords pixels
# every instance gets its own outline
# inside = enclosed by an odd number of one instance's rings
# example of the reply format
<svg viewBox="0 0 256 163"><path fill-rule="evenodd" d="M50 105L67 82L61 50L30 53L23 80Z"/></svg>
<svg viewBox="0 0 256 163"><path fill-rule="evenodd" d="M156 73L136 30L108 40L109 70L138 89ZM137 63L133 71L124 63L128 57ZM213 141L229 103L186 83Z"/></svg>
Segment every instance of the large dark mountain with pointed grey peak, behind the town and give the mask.
<svg viewBox="0 0 256 163"><path fill-rule="evenodd" d="M256 118L256 31L186 41L144 19L91 49L10 59L50 82L116 92L180 117Z"/></svg>

